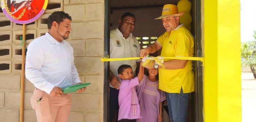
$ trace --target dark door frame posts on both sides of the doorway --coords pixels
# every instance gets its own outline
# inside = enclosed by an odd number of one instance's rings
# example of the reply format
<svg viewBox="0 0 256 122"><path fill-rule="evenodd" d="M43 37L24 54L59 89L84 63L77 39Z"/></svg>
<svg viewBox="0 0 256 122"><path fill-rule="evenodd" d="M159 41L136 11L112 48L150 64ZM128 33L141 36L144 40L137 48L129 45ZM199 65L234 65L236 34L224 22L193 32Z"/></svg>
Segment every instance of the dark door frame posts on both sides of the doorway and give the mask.
<svg viewBox="0 0 256 122"><path fill-rule="evenodd" d="M110 49L110 0L104 0L104 57L109 56ZM194 36L194 56L202 57L201 45L201 1L192 1L192 35ZM193 61L195 74L195 91L192 92L192 121L203 122L203 72L200 61ZM109 62L104 62L104 89L103 89L103 122L109 119Z"/></svg>

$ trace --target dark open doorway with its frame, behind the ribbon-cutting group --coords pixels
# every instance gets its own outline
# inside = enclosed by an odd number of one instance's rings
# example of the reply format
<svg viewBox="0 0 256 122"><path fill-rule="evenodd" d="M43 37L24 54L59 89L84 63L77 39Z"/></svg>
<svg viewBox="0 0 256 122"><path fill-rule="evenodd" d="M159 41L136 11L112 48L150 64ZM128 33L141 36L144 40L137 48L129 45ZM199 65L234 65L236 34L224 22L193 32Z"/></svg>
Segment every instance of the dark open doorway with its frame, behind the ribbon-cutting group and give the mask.
<svg viewBox="0 0 256 122"><path fill-rule="evenodd" d="M201 48L201 3L190 0L191 9L191 33L194 37L194 56L202 57ZM118 20L125 12L131 12L136 17L135 29L132 34L140 42L141 48L154 43L157 37L161 36L165 29L161 20L154 20L162 13L165 4L178 4L179 0L105 0L105 22L104 22L104 57L109 55L109 31L119 26ZM107 24L107 25L106 25ZM158 52L159 54L161 52ZM202 66L200 61L193 62L195 74L195 91L192 92L188 112L189 122L203 122L203 98L202 98ZM108 120L108 93L109 93L109 63L104 62L104 122ZM106 95L106 96L105 96Z"/></svg>

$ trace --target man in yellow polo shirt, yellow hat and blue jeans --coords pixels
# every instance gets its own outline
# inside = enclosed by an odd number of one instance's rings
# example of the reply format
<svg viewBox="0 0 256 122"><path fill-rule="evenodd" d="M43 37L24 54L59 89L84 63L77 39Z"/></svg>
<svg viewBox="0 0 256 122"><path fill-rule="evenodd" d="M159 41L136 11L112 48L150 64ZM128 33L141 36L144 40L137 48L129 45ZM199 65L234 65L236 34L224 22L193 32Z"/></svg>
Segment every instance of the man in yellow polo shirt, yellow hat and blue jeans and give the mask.
<svg viewBox="0 0 256 122"><path fill-rule="evenodd" d="M162 49L162 57L193 57L194 41L191 33L180 24L176 5L164 5L162 19L166 32L156 43L140 51L140 56L155 53ZM146 68L159 68L159 88L167 92L167 104L172 122L187 122L189 95L194 91L194 73L192 61L165 59L164 67L158 64Z"/></svg>

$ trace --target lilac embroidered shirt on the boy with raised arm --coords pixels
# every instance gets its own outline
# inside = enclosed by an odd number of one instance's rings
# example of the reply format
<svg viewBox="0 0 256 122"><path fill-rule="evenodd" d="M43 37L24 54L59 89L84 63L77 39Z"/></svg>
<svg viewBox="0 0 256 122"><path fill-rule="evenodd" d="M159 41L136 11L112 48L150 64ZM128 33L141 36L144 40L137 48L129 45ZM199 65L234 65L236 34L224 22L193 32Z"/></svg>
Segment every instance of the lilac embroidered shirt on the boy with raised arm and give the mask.
<svg viewBox="0 0 256 122"><path fill-rule="evenodd" d="M140 115L140 105L135 87L138 84L138 77L131 80L121 80L118 94L118 120L142 118Z"/></svg>

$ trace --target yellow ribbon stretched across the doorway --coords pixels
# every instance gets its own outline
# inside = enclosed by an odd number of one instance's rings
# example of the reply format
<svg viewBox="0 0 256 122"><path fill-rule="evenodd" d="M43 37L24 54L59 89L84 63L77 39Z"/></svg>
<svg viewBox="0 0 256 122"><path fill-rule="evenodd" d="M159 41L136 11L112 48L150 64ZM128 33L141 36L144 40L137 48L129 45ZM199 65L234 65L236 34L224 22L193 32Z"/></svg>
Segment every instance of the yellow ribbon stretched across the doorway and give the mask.
<svg viewBox="0 0 256 122"><path fill-rule="evenodd" d="M134 57L134 58L109 58L109 56L105 58L101 58L100 61L125 61L125 60L138 60L143 59L144 57ZM157 57L155 57L157 58ZM193 61L201 61L202 66L204 65L203 57L164 57L164 59L179 59L179 60L193 60ZM153 61L153 60L152 60ZM155 60L158 61L158 60ZM158 63L158 62L157 62ZM158 63L159 65L163 65L162 63Z"/></svg>

